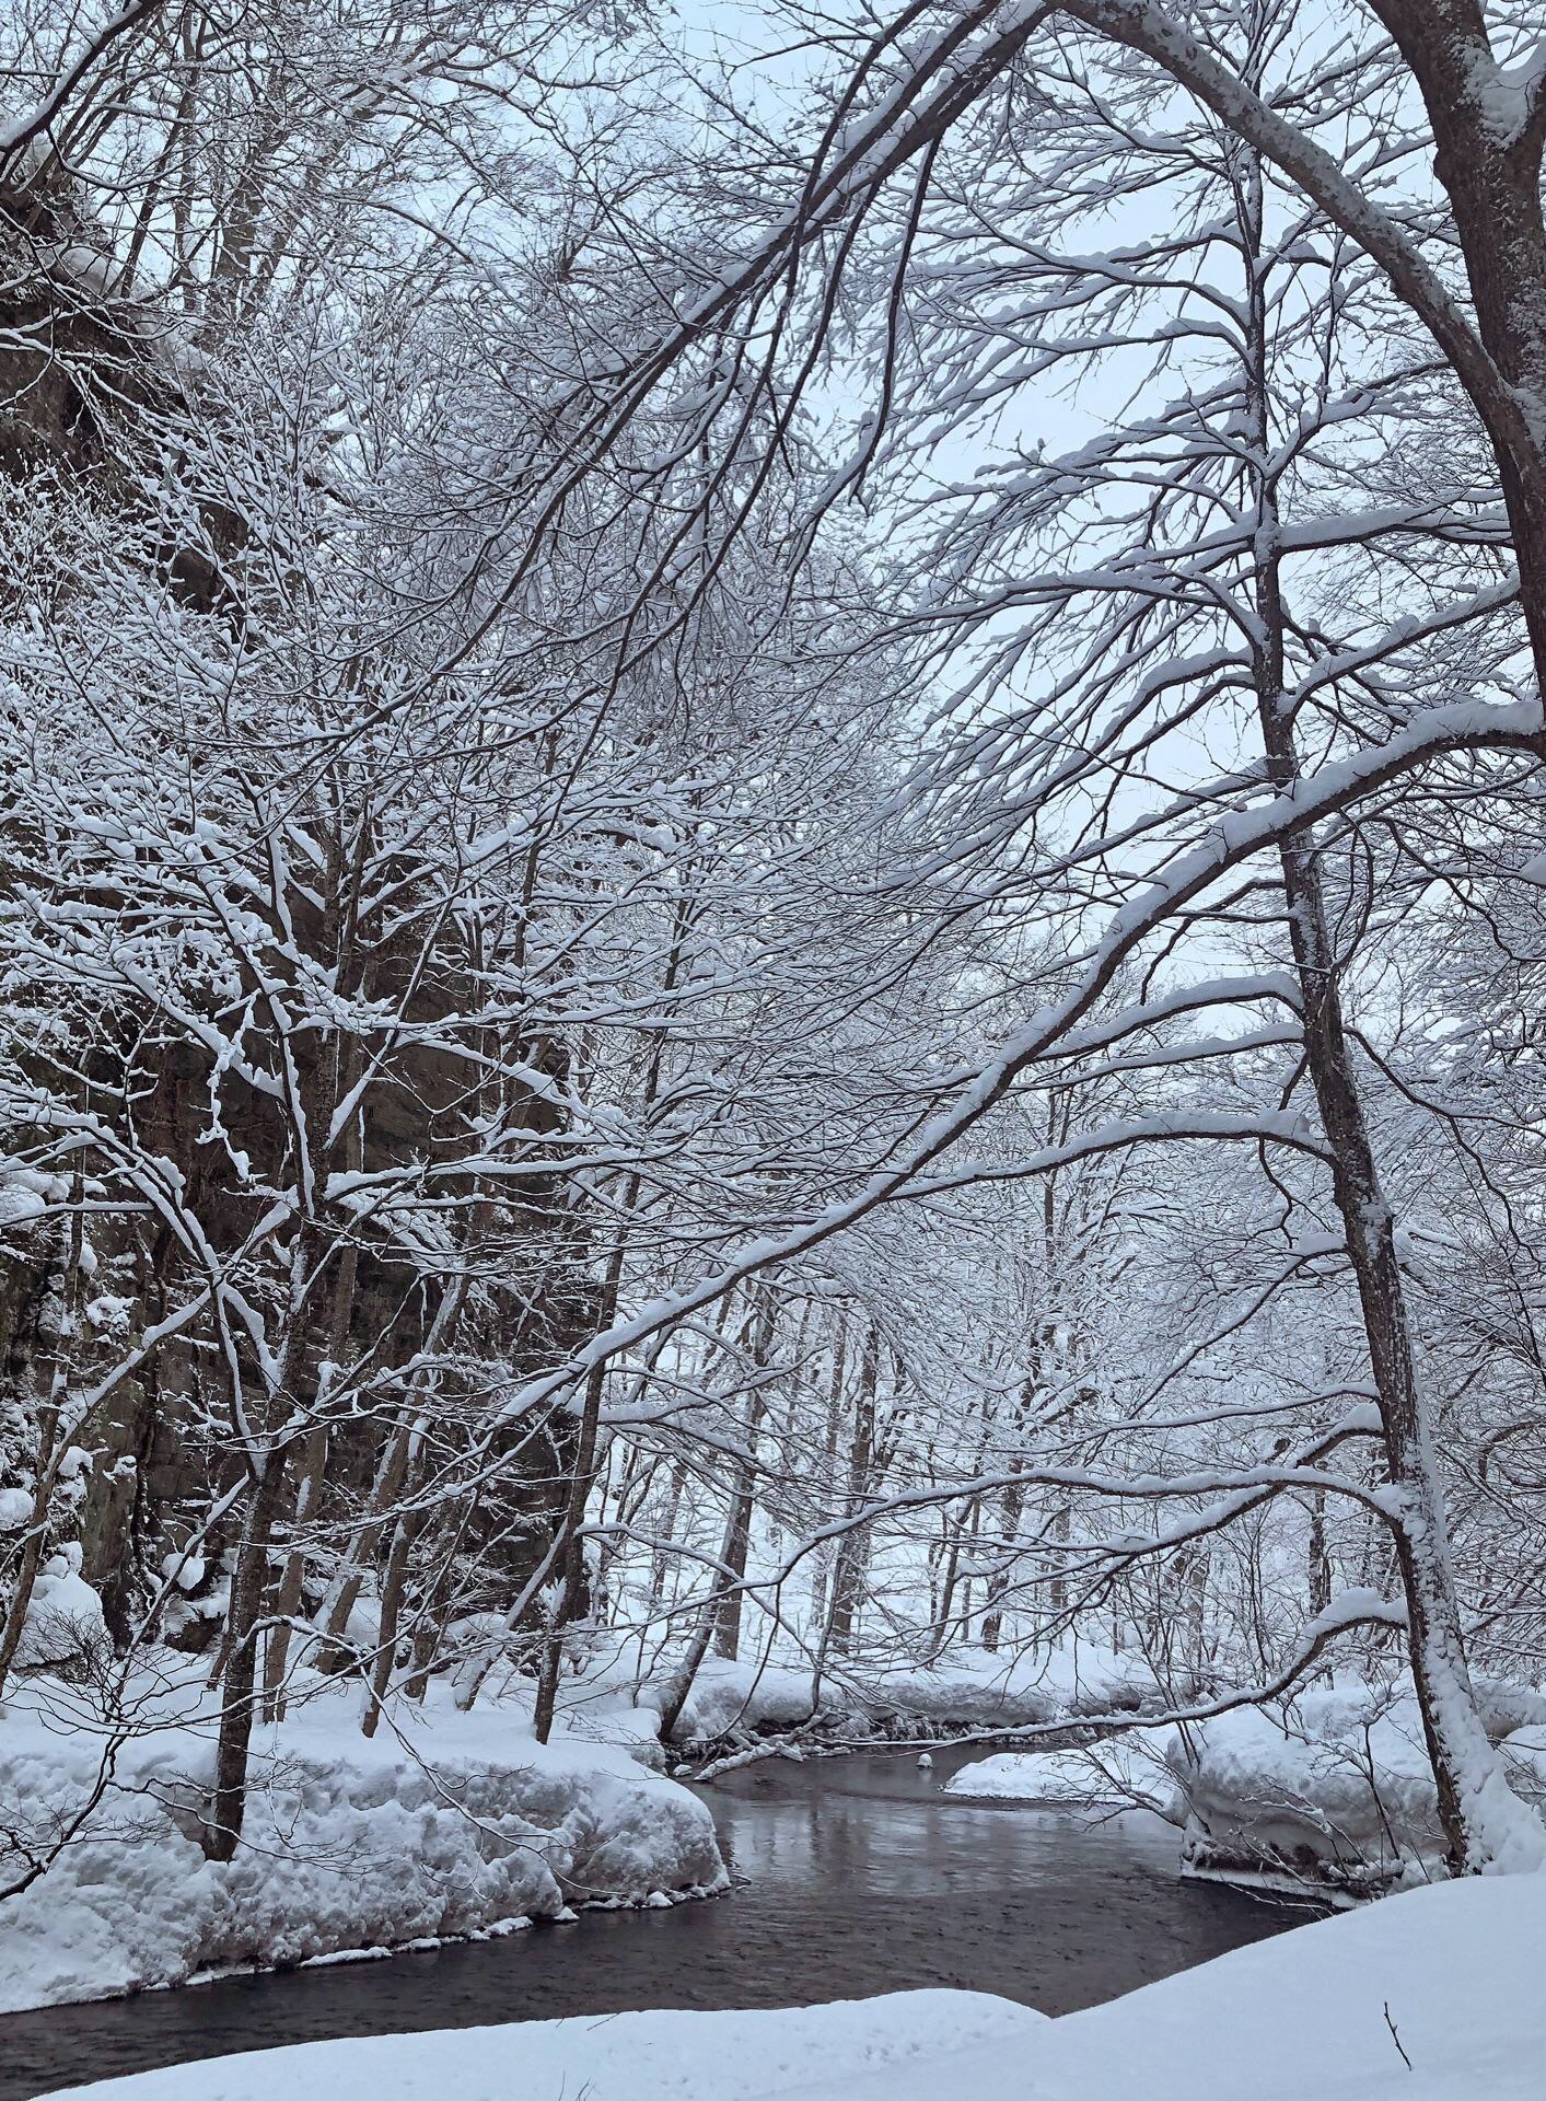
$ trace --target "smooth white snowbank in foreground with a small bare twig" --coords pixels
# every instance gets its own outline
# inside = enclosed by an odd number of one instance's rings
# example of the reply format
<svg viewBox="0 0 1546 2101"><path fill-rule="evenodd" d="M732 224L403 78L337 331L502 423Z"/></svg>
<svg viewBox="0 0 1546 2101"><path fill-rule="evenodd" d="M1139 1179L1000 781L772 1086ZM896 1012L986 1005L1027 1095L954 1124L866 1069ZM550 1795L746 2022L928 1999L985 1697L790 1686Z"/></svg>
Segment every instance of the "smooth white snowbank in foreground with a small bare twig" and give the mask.
<svg viewBox="0 0 1546 2101"><path fill-rule="evenodd" d="M1498 1876L1388 1897L1061 2021L977 1992L624 2013L309 2042L59 2101L1535 2101L1544 1941L1546 1876Z"/></svg>

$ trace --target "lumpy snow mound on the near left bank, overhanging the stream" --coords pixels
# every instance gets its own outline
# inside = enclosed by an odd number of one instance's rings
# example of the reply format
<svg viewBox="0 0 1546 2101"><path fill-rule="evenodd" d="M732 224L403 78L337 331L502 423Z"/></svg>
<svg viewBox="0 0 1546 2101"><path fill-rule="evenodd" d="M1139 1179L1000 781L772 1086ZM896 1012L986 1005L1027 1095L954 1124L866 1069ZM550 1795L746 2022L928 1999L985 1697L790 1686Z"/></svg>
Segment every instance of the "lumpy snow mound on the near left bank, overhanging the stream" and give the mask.
<svg viewBox="0 0 1546 2101"><path fill-rule="evenodd" d="M725 1885L708 1809L628 1750L544 1746L519 1714L450 1706L414 1717L412 1742L368 1742L357 1696L334 1689L256 1733L242 1845L214 1866L179 1807L212 1777L195 1721L126 1744L84 1836L0 1906L0 2013ZM46 1840L99 1752L11 1702L0 1828Z"/></svg>

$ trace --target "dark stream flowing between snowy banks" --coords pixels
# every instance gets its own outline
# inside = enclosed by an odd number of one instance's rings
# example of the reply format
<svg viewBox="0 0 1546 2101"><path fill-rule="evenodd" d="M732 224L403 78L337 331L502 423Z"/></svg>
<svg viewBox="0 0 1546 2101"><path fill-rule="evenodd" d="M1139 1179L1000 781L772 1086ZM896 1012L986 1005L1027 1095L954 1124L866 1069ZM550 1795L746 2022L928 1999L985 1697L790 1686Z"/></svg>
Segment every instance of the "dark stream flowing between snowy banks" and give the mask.
<svg viewBox="0 0 1546 2101"><path fill-rule="evenodd" d="M737 1889L704 1904L8 2015L0 2101L279 2042L636 2006L964 1985L1071 2013L1307 1916L1181 1882L1172 1832L943 1798L981 1754L935 1752L931 1773L912 1756L727 1773L704 1794Z"/></svg>

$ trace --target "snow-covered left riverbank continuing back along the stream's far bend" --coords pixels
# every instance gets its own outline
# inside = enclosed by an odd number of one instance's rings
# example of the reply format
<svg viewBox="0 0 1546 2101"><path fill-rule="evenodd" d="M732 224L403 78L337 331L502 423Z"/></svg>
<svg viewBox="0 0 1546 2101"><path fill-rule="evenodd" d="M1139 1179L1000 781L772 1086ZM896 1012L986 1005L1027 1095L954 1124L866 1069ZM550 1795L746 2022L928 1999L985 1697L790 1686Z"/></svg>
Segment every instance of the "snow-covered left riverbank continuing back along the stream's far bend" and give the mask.
<svg viewBox="0 0 1546 2101"><path fill-rule="evenodd" d="M531 1735L531 1679L483 1658L393 1700L374 1740L355 1679L305 1664L288 1717L258 1727L235 1859L204 1859L216 1708L208 1668L147 1651L113 1687L101 1611L76 1582L76 1622L0 1708L0 2013L231 1969L422 1946L563 1918L586 1904L666 1904L723 1887L708 1809L651 1771L672 1658L630 1668L597 1651L567 1677L555 1742ZM84 1630L82 1630L84 1628ZM821 1712L840 1735L893 1727L996 1727L1136 1702L1134 1664L1088 1643L1048 1653L973 1653L949 1666L817 1683L811 1668L708 1658L676 1744L754 1742ZM101 1679L101 1683L99 1683Z"/></svg>

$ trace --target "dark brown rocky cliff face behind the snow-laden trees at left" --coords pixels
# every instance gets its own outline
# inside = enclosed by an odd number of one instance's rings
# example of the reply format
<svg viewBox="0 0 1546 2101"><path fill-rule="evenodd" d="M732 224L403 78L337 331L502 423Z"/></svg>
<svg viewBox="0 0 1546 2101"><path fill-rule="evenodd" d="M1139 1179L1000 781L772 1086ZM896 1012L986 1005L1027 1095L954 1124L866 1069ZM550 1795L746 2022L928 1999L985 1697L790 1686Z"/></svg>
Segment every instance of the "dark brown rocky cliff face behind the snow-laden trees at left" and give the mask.
<svg viewBox="0 0 1546 2101"><path fill-rule="evenodd" d="M67 485L97 515L122 517L141 555L170 595L195 618L239 620L233 584L223 567L246 536L214 506L202 519L202 546L166 540L162 517L145 502L147 475L176 460L181 391L168 357L172 330L162 315L128 296L111 256L59 189L0 189L0 477L17 500L48 483ZM25 706L21 700L0 702ZM302 813L305 815L305 813ZM23 882L25 840L0 838L0 897ZM86 1023L80 1044L80 1090L99 1120L103 1145L61 1156L46 1120L11 1120L0 1128L0 1490L32 1496L48 1488L46 1553L65 1553L101 1593L118 1643L130 1639L168 1557L183 1551L210 1504L248 1464L231 1435L231 1364L206 1322L145 1353L132 1374L118 1376L82 1416L84 1397L107 1380L126 1353L164 1322L197 1284L197 1250L137 1193L130 1158L155 1160L176 1187L183 1214L195 1221L210 1263L233 1284L271 1303L284 1277L244 1267L244 1246L269 1202L300 1170L296 1101L309 1128L326 1128L340 1086L340 1059L368 1061L357 1116L347 1135L309 1162L323 1179L344 1166L357 1174L393 1168L437 1168L437 1198L452 1208L475 1202L454 1164L468 1147L477 1095L468 1090L468 1029L460 1017L477 1011L473 958L456 924L445 924L429 954L403 908L412 870L401 872L397 924L372 922L340 908L347 870L328 861L288 889L269 889L271 870L254 866L252 931L265 969L286 985L286 1000L305 1011L315 983L340 996L376 1002L393 1027L344 1032L300 1029L284 1046L265 1044L256 983L250 1038L254 1059L284 1086L248 1084L223 1069L218 1055L189 1025L153 1000L124 1000L122 987ZM82 876L86 880L86 876ZM88 874L97 903L113 903L107 857ZM122 899L120 899L122 901ZM27 990L19 985L21 1004ZM197 985L183 987L197 1017ZM229 994L229 987L227 987ZM214 992L208 992L214 1000ZM44 994L46 1000L46 994ZM214 1008L210 1006L210 1013ZM435 1044L437 1029L458 1038ZM23 1027L4 1029L0 1057L21 1082L34 1080L38 1101L59 1084L59 1065L38 1061ZM557 1076L561 1053L534 1044L527 1063ZM46 1069L44 1069L46 1067ZM80 1103L76 1103L80 1107ZM504 1103L504 1114L510 1114ZM534 1141L552 1135L559 1111L548 1090L534 1086L515 1105ZM351 1151L353 1147L353 1151ZM6 1168L21 1162L21 1170ZM242 1172L233 1162L242 1162ZM29 1166L42 1162L42 1166ZM481 1223L502 1252L466 1292L458 1313L452 1361L437 1372L437 1416L443 1441L435 1464L456 1473L456 1445L483 1435L489 1380L517 1382L531 1368L563 1355L592 1315L584 1286L584 1221L557 1187L550 1193L483 1204ZM8 1219L6 1219L8 1206ZM315 1294L307 1332L292 1359L288 1406L305 1406L317 1372L338 1351L370 1361L380 1401L330 1422L305 1464L317 1462L309 1523L334 1544L368 1515L368 1498L395 1435L393 1380L420 1361L437 1334L437 1313L454 1290L450 1248L435 1256L399 1227L355 1229L344 1204L328 1214L330 1261L347 1288ZM347 1254L340 1252L347 1248ZM239 1322L237 1322L239 1330ZM61 1345L61 1334L65 1336ZM237 1334L237 1353L248 1343ZM443 1347L443 1345L441 1345ZM237 1364L237 1376L252 1366ZM254 1380L254 1387L258 1380ZM401 1376L397 1376L401 1389ZM258 1439L277 1424L252 1424ZM445 1527L445 1553L481 1563L481 1593L460 1605L502 1609L548 1548L563 1513L573 1466L573 1424L559 1416L494 1437L494 1464ZM65 1456L65 1454L78 1456ZM296 1466L302 1464L298 1458ZM19 1502L15 1504L19 1509ZM197 1576L176 1590L162 1632L206 1645L218 1637L227 1555L239 1523L239 1502L204 1542ZM330 1530L332 1527L332 1530ZM372 1544L380 1557L386 1534ZM0 1603L15 1538L0 1536ZM309 1559L305 1593L319 1595L326 1548Z"/></svg>

